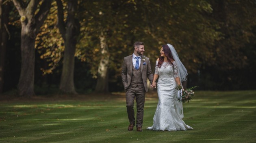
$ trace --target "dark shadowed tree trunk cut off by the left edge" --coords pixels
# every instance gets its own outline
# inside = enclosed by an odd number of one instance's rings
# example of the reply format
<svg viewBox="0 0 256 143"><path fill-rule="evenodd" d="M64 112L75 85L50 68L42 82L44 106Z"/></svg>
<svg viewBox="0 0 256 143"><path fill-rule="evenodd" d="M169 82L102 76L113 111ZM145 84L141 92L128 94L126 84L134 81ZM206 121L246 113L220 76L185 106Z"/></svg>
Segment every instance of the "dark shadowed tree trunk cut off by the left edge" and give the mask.
<svg viewBox="0 0 256 143"><path fill-rule="evenodd" d="M7 44L7 25L9 22L9 3L2 5L0 0L0 94L4 86L5 53Z"/></svg>

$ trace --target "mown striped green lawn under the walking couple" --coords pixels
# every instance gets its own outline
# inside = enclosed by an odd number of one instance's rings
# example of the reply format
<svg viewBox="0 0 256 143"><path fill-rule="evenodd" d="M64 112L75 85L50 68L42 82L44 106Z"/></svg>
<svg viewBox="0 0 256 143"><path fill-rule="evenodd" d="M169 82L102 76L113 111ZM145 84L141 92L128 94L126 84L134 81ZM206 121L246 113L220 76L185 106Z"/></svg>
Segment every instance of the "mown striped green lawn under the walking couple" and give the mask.
<svg viewBox="0 0 256 143"><path fill-rule="evenodd" d="M146 130L158 101L150 93L143 132L127 131L124 95L101 97L0 101L0 143L256 142L256 91L197 91L183 104L183 120L194 130L174 132Z"/></svg>

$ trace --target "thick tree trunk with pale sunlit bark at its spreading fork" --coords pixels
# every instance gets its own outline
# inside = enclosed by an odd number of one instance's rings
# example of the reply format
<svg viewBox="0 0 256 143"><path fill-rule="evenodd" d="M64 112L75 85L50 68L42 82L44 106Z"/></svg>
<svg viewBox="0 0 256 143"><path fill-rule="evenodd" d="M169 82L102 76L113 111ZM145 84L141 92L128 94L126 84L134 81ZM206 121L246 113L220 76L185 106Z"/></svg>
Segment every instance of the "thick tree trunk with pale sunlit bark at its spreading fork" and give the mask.
<svg viewBox="0 0 256 143"><path fill-rule="evenodd" d="M35 38L46 19L51 0L44 0L35 14L39 0L30 0L26 5L23 1L12 0L21 18L21 72L18 83L19 96L31 97L34 93L35 78Z"/></svg>

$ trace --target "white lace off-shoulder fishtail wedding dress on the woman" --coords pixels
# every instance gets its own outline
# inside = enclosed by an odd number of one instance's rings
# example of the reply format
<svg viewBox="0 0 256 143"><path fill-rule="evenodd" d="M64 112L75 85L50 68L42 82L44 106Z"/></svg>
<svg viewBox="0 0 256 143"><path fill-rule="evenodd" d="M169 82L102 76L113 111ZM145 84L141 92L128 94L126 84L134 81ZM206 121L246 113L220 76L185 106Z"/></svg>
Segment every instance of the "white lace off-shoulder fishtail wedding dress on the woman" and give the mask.
<svg viewBox="0 0 256 143"><path fill-rule="evenodd" d="M175 89L178 69L175 61L173 64L174 66L163 62L162 66L158 68L158 61L156 61L155 74L159 75L157 82L158 104L153 118L153 126L147 128L149 130L193 130L182 120L182 103L178 103L176 99L178 90Z"/></svg>

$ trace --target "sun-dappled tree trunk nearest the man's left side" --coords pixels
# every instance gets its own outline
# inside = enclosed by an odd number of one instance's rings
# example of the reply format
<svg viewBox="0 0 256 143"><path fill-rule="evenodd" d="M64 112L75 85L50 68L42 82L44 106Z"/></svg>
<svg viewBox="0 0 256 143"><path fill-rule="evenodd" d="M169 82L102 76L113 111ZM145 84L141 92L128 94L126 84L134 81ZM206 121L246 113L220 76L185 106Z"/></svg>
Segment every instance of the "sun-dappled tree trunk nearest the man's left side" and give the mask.
<svg viewBox="0 0 256 143"><path fill-rule="evenodd" d="M98 67L97 84L95 87L95 92L108 93L108 64L109 64L109 52L108 46L106 44L106 38L101 33L100 36L100 48L101 48L101 60Z"/></svg>

